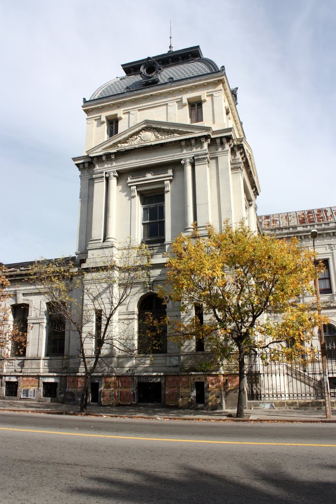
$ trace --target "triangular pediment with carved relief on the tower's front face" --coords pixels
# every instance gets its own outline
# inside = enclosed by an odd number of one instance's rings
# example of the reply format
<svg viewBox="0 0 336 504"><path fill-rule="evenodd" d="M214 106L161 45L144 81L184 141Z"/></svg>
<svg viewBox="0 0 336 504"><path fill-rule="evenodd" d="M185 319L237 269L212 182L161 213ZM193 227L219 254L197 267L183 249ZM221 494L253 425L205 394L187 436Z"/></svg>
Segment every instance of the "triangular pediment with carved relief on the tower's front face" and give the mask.
<svg viewBox="0 0 336 504"><path fill-rule="evenodd" d="M167 142L169 140L183 139L190 136L209 135L212 128L197 124L183 124L179 122L155 121L146 119L132 128L105 140L87 151L89 156L103 154L111 150L131 149L153 143Z"/></svg>

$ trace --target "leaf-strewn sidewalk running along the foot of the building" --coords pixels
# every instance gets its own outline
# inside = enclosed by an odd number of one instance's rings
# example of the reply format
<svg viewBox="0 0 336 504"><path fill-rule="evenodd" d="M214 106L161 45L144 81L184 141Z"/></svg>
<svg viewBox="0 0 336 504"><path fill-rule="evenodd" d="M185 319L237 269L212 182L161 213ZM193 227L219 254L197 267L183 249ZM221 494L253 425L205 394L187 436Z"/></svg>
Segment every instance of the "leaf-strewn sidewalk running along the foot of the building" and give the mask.
<svg viewBox="0 0 336 504"><path fill-rule="evenodd" d="M58 403L38 403L35 401L0 399L1 411L17 411L56 415L92 415L119 418L147 418L158 420L198 420L198 421L271 421L271 422L328 422L336 423L336 410L332 410L332 419L325 418L324 409L253 409L245 410L246 418L236 419L235 410L185 410L145 406L88 406L86 413L79 413L78 405Z"/></svg>

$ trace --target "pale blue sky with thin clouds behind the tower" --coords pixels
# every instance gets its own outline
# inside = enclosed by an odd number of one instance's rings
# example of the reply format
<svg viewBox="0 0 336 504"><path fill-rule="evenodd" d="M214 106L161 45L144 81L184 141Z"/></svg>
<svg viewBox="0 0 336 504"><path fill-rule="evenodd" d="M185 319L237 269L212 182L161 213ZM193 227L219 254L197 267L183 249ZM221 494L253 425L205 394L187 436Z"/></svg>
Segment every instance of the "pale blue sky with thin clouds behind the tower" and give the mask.
<svg viewBox="0 0 336 504"><path fill-rule="evenodd" d="M258 214L336 205L336 0L0 0L0 262L74 255L83 97L200 45L238 87Z"/></svg>

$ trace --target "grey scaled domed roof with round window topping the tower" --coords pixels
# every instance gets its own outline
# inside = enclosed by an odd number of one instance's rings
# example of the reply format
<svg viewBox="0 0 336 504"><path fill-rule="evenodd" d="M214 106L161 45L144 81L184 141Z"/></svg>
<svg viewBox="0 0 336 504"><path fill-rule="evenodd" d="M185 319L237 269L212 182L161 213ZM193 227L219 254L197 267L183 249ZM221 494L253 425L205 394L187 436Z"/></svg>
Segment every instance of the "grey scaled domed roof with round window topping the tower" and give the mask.
<svg viewBox="0 0 336 504"><path fill-rule="evenodd" d="M147 77L146 68L151 65L154 79ZM153 64L157 66L157 72ZM105 98L120 93L129 93L137 89L143 89L144 85L157 86L167 82L189 79L198 75L218 72L219 68L211 59L204 58L199 46L170 51L165 54L153 56L153 58L141 59L122 65L126 75L117 77L100 86L90 97L90 100ZM149 68L149 67L148 67ZM144 77L145 75L145 77ZM150 76L152 77L152 76ZM146 80L147 79L147 80Z"/></svg>

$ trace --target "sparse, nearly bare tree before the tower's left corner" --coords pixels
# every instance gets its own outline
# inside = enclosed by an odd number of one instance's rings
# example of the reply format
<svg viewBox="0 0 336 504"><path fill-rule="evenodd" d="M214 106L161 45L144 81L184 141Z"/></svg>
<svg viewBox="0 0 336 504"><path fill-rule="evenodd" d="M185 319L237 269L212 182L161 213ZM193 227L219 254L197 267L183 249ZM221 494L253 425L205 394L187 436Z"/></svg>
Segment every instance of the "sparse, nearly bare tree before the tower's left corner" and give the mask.
<svg viewBox="0 0 336 504"><path fill-rule="evenodd" d="M117 322L120 306L142 292L148 281L150 253L145 244L128 240L113 255L79 266L69 258L36 261L29 281L46 299L56 318L65 320L79 343L84 388L80 411L86 411L91 376L113 350L135 354L134 334L127 321ZM104 351L103 351L104 348Z"/></svg>

